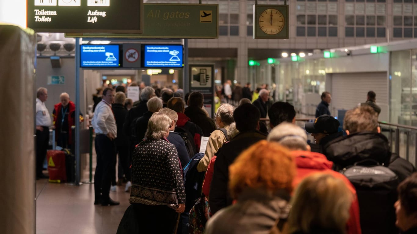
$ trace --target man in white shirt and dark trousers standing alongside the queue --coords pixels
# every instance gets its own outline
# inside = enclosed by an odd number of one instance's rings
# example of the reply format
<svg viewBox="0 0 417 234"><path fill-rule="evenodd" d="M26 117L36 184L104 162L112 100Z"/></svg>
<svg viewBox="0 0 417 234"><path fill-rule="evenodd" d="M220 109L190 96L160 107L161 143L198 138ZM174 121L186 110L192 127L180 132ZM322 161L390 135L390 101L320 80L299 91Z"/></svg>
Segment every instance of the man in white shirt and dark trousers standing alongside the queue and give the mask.
<svg viewBox="0 0 417 234"><path fill-rule="evenodd" d="M113 201L109 194L111 173L116 162L116 144L114 139L117 137L117 125L111 109L114 95L112 88L103 90L103 98L95 107L94 116L91 119L91 124L95 131L94 143L97 154L97 166L94 174L94 204L101 204L102 206L120 204Z"/></svg>

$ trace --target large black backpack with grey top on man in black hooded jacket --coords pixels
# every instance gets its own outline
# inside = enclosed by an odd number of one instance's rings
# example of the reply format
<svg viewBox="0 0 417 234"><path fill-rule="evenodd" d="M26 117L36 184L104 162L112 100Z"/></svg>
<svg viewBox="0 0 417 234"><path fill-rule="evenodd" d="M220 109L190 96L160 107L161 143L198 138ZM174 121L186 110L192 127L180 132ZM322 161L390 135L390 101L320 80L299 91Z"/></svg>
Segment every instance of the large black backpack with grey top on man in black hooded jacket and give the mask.
<svg viewBox="0 0 417 234"><path fill-rule="evenodd" d="M373 160L365 159L341 171L356 189L362 233L398 233L394 209L398 177L376 161L373 161L376 166L359 166L365 161L369 164Z"/></svg>

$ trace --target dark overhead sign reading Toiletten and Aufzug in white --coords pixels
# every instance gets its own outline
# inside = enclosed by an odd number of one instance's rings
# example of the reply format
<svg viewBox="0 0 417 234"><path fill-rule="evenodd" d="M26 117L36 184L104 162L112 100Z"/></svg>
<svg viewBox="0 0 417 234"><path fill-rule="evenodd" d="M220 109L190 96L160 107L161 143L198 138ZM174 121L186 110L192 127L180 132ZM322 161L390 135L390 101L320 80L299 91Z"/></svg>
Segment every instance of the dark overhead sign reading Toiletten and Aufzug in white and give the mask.
<svg viewBox="0 0 417 234"><path fill-rule="evenodd" d="M27 12L36 32L143 32L143 0L27 0Z"/></svg>

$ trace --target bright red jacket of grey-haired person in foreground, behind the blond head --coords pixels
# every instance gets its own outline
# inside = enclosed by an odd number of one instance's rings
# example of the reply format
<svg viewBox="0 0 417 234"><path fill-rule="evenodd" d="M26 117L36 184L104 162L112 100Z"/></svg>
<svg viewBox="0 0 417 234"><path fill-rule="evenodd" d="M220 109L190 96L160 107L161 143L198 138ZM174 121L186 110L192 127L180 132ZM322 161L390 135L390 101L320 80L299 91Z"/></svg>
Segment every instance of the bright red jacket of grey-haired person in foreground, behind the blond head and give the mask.
<svg viewBox="0 0 417 234"><path fill-rule="evenodd" d="M295 158L297 165L297 175L294 178L294 188L303 180L305 177L315 172L324 172L331 174L332 176L341 179L354 194L354 201L350 206L350 217L347 221L347 233L348 234L362 234L360 222L359 222L359 203L356 194L356 190L349 180L339 172L332 170L333 162L327 160L326 156L316 152L309 151L293 151L292 155Z"/></svg>

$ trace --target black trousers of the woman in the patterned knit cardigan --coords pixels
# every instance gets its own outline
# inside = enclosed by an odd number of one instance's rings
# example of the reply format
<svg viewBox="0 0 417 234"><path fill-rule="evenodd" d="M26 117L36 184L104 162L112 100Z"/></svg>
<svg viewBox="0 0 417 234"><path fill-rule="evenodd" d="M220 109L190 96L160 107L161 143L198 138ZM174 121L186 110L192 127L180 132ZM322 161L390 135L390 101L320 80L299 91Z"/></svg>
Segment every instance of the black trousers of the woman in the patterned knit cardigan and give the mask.
<svg viewBox="0 0 417 234"><path fill-rule="evenodd" d="M172 234L178 219L175 210L164 206L132 204L135 209L140 234Z"/></svg>

